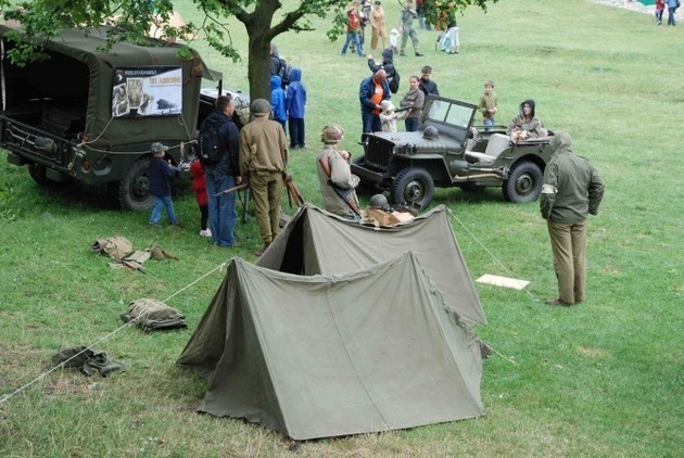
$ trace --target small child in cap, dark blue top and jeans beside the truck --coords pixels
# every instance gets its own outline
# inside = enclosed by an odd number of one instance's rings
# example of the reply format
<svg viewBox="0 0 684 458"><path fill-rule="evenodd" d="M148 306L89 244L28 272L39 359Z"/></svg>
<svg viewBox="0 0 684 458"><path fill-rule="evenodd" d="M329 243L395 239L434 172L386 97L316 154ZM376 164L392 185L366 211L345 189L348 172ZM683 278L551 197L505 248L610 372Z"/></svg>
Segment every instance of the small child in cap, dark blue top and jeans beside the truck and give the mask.
<svg viewBox="0 0 684 458"><path fill-rule="evenodd" d="M172 225L180 226L181 221L174 212L174 203L170 199L170 181L178 169L172 167L169 162L164 161L168 147L160 142L152 143L152 160L148 169L150 180L150 194L154 195L154 205L150 215L150 226L157 228L162 217L162 207L166 208L168 221Z"/></svg>

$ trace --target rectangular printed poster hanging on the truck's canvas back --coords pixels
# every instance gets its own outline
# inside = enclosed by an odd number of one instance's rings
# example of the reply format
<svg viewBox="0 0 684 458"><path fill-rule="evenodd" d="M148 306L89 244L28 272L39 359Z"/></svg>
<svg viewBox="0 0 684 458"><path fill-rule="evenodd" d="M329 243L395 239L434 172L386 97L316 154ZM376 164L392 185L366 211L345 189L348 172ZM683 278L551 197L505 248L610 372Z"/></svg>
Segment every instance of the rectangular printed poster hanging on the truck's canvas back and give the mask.
<svg viewBox="0 0 684 458"><path fill-rule="evenodd" d="M174 116L182 112L182 68L119 67L112 86L112 116Z"/></svg>

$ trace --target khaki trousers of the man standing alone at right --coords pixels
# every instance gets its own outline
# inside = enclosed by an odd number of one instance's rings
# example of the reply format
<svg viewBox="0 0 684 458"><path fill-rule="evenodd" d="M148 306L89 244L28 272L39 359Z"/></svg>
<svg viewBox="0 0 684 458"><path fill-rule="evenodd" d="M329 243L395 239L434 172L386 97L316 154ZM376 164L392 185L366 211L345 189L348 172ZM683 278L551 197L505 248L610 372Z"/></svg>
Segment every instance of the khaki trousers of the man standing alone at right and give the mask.
<svg viewBox="0 0 684 458"><path fill-rule="evenodd" d="M548 221L558 298L566 304L584 301L586 282L586 222Z"/></svg>

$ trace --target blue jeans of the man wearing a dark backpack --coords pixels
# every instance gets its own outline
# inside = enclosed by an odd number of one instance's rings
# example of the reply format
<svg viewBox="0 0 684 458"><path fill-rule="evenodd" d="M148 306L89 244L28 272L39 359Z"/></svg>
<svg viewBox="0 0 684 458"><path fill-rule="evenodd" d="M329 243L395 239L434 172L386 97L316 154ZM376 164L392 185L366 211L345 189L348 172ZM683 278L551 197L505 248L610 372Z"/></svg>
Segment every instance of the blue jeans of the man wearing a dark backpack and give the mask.
<svg viewBox="0 0 684 458"><path fill-rule="evenodd" d="M212 240L218 246L232 246L236 244L236 193L223 194L214 198L217 192L225 191L236 186L232 175L225 175L212 167L204 168L206 178L206 203L210 214L210 228Z"/></svg>

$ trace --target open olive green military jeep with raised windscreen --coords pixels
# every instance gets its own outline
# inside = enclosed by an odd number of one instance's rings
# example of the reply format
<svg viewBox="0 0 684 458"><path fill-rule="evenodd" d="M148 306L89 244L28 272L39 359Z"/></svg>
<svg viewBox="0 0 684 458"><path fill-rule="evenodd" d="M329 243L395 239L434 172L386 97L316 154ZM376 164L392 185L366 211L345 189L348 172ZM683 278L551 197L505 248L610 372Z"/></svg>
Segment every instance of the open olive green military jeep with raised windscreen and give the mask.
<svg viewBox="0 0 684 458"><path fill-rule="evenodd" d="M477 106L429 97L419 131L364 133L352 164L362 183L390 191L394 205L425 208L434 187L501 187L504 199L535 201L550 152L549 136L511 143L504 126L473 126Z"/></svg>

